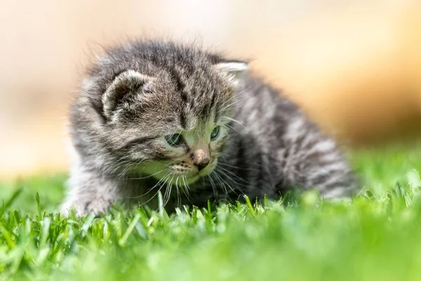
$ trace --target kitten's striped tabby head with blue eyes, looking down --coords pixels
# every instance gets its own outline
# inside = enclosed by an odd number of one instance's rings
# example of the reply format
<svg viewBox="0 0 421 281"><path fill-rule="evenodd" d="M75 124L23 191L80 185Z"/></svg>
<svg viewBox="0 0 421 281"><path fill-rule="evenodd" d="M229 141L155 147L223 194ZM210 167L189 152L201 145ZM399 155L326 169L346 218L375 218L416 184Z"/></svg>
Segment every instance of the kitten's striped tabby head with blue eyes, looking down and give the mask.
<svg viewBox="0 0 421 281"><path fill-rule="evenodd" d="M173 183L210 174L227 143L237 79L247 68L176 44L109 51L89 84L101 92L92 100L115 164Z"/></svg>

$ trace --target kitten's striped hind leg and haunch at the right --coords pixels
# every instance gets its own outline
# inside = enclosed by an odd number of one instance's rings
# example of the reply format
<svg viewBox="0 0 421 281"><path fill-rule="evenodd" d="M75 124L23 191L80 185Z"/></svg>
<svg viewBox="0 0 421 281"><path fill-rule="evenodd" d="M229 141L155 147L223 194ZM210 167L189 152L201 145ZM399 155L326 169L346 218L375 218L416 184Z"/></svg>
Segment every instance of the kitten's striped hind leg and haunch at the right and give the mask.
<svg viewBox="0 0 421 281"><path fill-rule="evenodd" d="M349 197L356 192L356 177L335 143L307 122L296 119L286 131L283 157L284 185L317 188L322 197Z"/></svg>

